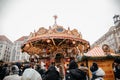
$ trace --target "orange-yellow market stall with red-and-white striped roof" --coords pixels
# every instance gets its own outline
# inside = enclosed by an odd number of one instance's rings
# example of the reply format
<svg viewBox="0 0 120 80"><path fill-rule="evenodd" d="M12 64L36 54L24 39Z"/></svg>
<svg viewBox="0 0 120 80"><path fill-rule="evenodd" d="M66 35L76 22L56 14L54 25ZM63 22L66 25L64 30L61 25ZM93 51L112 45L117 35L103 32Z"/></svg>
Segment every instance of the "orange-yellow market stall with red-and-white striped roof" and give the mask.
<svg viewBox="0 0 120 80"><path fill-rule="evenodd" d="M84 56L84 59L86 59L87 66L89 68L89 77L92 77L90 67L93 63L97 63L98 66L105 71L104 80L115 80L113 63L116 58L120 57L120 55L113 53L112 50L107 51L106 49L105 51L103 47L101 48L99 46L96 46L88 51Z"/></svg>

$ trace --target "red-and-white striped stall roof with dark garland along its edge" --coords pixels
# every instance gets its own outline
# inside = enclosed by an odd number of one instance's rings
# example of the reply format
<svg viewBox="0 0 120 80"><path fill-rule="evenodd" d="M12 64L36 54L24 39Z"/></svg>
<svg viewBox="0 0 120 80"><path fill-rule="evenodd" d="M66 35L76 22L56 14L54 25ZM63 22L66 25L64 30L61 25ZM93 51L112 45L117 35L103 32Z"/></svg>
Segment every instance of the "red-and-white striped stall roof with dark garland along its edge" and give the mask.
<svg viewBox="0 0 120 80"><path fill-rule="evenodd" d="M104 60L104 59L115 59L120 58L120 54L110 53L105 54L103 49L99 46L96 46L84 54L82 60Z"/></svg>

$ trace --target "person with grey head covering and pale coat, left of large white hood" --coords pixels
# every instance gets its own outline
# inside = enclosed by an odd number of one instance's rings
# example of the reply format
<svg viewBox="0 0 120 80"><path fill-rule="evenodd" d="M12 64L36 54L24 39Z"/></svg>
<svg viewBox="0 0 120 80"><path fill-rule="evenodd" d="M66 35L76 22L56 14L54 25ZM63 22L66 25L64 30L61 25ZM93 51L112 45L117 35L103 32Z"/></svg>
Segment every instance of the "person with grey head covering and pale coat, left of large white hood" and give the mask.
<svg viewBox="0 0 120 80"><path fill-rule="evenodd" d="M19 76L19 68L17 65L13 65L11 68L12 74L6 76L3 80L21 80L21 76Z"/></svg>

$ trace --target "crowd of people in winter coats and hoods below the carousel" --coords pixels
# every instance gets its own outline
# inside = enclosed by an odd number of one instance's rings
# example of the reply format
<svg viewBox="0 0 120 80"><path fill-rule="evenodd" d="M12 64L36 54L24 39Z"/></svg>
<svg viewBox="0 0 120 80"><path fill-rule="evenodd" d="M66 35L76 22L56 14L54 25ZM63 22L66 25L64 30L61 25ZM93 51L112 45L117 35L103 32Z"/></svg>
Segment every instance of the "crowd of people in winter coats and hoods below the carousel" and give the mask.
<svg viewBox="0 0 120 80"><path fill-rule="evenodd" d="M117 61L115 61L114 72L116 80L119 80L120 66ZM91 78L88 76L88 70L92 73ZM88 69L83 63L78 65L75 60L71 60L63 73L61 73L60 65L55 63L51 63L46 69L44 64L35 65L34 62L25 64L24 67L0 62L0 80L104 80L105 75L104 70L95 62Z"/></svg>

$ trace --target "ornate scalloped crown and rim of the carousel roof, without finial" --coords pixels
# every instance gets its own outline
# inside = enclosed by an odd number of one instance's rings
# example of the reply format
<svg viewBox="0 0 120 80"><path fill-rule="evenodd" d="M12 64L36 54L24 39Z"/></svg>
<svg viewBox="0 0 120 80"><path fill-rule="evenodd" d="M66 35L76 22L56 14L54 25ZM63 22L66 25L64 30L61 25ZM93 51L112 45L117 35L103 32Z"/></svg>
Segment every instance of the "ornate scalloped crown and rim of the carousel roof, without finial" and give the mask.
<svg viewBox="0 0 120 80"><path fill-rule="evenodd" d="M34 42L36 40L42 40L42 39L70 39L75 41L82 41L83 43L86 43L87 41L82 39L82 35L78 33L76 29L66 30L63 28L63 26L53 26L53 28L49 27L49 29L46 29L44 27L39 28L37 32L30 33L28 38L29 42Z"/></svg>

